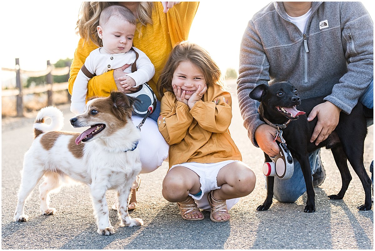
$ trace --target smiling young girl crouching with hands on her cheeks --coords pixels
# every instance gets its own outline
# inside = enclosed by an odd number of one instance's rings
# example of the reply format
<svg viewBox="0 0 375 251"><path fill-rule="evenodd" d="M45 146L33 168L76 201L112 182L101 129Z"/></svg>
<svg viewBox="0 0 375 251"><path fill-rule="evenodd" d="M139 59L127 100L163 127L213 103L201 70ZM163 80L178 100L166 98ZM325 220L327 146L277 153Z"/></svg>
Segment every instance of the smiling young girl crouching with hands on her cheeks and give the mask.
<svg viewBox="0 0 375 251"><path fill-rule="evenodd" d="M199 208L211 210L211 221L228 221L228 210L255 186L228 131L231 95L220 76L207 51L184 41L173 48L157 83L158 126L169 144L162 194L190 221L204 218Z"/></svg>

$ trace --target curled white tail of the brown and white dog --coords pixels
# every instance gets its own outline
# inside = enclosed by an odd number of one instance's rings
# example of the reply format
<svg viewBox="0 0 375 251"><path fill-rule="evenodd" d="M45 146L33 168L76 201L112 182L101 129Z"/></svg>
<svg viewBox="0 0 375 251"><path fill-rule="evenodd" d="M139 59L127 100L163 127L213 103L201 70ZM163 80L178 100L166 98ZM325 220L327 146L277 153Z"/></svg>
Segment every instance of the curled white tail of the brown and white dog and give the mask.
<svg viewBox="0 0 375 251"><path fill-rule="evenodd" d="M51 123L45 123L46 119L51 119ZM44 107L36 115L34 122L34 138L42 133L59 131L63 128L63 125L64 117L62 111L54 106Z"/></svg>

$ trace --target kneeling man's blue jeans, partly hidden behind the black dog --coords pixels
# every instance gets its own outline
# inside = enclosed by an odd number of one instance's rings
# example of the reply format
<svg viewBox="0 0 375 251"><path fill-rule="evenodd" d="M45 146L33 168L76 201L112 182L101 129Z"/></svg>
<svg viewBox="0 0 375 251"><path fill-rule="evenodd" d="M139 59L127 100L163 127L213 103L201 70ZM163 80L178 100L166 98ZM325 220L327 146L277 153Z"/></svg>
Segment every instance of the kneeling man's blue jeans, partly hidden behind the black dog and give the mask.
<svg viewBox="0 0 375 251"><path fill-rule="evenodd" d="M366 107L372 109L374 108L374 80L371 81L365 93L359 98L359 101L365 105ZM372 119L372 123L370 121L370 125L374 123ZM369 121L367 126L369 125ZM315 150L314 152L309 154L309 162L311 167L311 174L314 174L320 168L320 149ZM294 161L294 171L293 176L288 180L281 180L275 177L275 185L273 188L274 195L273 197L280 201L280 202L294 202L296 201L303 193L306 192L306 184L305 179L303 178L303 173L301 170L300 163L293 159ZM371 167L371 166L370 166ZM371 181L374 184L374 168L370 168L371 172Z"/></svg>

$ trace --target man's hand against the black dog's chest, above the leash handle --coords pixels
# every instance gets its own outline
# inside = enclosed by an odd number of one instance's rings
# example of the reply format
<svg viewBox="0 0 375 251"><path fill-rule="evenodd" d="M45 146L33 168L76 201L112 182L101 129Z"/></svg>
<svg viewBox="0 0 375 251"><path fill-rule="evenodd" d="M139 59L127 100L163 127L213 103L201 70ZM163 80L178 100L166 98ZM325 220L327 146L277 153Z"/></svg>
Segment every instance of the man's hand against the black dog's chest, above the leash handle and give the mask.
<svg viewBox="0 0 375 251"><path fill-rule="evenodd" d="M276 129L267 124L258 126L254 133L254 138L255 141L257 141L258 146L270 157L274 157L279 154L279 144L276 141L273 142L275 134ZM278 141L281 142L279 137Z"/></svg>

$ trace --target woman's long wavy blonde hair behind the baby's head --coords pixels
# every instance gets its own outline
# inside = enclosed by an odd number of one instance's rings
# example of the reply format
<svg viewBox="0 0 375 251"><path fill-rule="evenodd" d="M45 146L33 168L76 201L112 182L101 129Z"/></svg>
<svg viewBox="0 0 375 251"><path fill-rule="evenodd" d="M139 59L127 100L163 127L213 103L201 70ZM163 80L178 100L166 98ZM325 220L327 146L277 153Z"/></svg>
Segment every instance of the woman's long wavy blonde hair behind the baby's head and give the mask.
<svg viewBox="0 0 375 251"><path fill-rule="evenodd" d="M85 41L92 41L101 47L102 39L98 37L96 27L99 25L101 12L111 5L120 5L118 2L83 2L78 15L76 33ZM153 2L138 2L136 16L142 25L152 24Z"/></svg>

